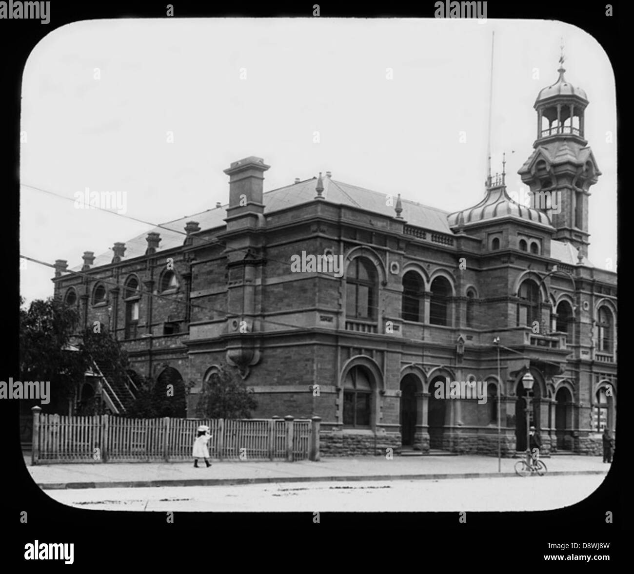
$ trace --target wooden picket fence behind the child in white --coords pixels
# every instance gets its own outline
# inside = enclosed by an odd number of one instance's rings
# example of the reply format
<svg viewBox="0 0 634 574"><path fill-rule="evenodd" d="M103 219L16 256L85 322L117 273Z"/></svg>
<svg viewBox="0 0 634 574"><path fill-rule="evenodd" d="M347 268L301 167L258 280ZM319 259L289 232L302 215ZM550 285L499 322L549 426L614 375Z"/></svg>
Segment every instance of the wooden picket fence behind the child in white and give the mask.
<svg viewBox="0 0 634 574"><path fill-rule="evenodd" d="M32 464L191 459L200 424L217 460L319 460L321 419L130 419L63 416L33 409Z"/></svg>

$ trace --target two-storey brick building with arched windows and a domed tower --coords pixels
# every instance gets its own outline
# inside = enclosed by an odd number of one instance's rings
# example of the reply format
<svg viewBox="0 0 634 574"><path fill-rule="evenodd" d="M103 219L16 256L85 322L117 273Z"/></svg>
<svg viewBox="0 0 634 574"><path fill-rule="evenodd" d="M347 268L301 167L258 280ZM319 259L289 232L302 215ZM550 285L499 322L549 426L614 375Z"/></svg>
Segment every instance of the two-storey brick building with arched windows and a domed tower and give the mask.
<svg viewBox="0 0 634 574"><path fill-rule="evenodd" d="M530 373L543 448L598 453L615 428L616 273L588 260L587 105L562 69L538 95L519 170L531 205L505 174L451 214L330 172L264 193L269 166L249 157L224 171L228 205L85 252L81 274L58 260L55 295L115 333L136 373L193 381L190 416L228 364L257 393L254 416L321 416L324 454L495 453L499 413L508 455L525 447ZM342 256L342 273L311 255ZM486 402L439 398L446 379L485 381Z"/></svg>

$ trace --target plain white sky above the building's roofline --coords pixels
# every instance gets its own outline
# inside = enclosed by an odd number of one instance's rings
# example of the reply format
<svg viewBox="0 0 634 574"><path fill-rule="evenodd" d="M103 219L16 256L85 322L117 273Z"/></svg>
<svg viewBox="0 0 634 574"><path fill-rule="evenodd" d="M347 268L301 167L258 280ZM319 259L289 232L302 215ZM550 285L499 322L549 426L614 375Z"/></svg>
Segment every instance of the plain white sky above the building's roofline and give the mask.
<svg viewBox="0 0 634 574"><path fill-rule="evenodd" d="M466 208L484 193L492 30L493 172L506 151L508 191L519 189L517 170L536 136L533 103L557 80L563 36L566 79L588 94L586 139L603 174L590 190L589 258L598 267L616 262L614 75L598 42L561 22L67 25L44 37L25 67L21 182L69 198L85 188L126 192L126 215L163 223L226 203L223 169L256 155L271 165L265 191L330 170L349 184L450 212ZM50 263L74 267L84 251L99 255L150 229L25 186L21 193L20 253ZM27 264L27 302L53 294L51 277L53 269Z"/></svg>

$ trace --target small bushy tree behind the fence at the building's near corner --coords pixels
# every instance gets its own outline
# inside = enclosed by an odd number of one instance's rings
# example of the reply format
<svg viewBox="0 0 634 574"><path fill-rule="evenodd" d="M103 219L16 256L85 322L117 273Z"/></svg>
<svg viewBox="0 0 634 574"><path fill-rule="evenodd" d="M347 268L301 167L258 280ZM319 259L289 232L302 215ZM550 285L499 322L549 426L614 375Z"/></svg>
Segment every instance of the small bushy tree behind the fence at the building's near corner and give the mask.
<svg viewBox="0 0 634 574"><path fill-rule="evenodd" d="M242 379L222 368L203 383L196 414L210 419L249 419L250 411L257 409L253 394Z"/></svg>

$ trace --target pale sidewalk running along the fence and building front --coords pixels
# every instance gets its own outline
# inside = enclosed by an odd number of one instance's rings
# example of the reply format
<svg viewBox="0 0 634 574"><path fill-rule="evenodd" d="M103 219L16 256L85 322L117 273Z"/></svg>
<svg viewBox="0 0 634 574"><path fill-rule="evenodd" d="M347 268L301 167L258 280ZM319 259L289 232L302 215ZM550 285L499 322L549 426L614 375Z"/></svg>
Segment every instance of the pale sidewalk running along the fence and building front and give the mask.
<svg viewBox="0 0 634 574"><path fill-rule="evenodd" d="M60 488L121 488L240 485L280 482L351 480L440 480L515 476L518 459L487 456L425 456L323 458L320 462L213 462L194 468L192 462L131 462L106 464L42 464L29 466L34 482L45 490ZM25 459L27 461L27 459ZM30 462L30 461L29 461ZM544 459L548 476L606 474L601 457L566 456Z"/></svg>

